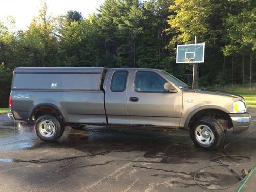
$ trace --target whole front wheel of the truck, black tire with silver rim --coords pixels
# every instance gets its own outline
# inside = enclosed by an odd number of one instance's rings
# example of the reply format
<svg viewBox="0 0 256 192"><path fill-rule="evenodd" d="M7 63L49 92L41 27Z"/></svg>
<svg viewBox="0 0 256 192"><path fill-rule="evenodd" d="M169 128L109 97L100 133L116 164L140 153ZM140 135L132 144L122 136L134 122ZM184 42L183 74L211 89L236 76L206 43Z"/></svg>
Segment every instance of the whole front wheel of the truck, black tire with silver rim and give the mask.
<svg viewBox="0 0 256 192"><path fill-rule="evenodd" d="M191 126L190 137L196 146L214 150L224 143L225 132L216 119L202 117Z"/></svg>

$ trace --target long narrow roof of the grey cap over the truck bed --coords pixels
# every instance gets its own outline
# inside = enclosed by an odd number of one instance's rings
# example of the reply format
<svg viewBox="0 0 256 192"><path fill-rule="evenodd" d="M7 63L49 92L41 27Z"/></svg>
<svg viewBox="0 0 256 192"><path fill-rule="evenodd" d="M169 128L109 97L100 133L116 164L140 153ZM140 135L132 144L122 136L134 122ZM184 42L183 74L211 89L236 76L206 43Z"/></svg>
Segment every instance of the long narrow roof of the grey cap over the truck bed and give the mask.
<svg viewBox="0 0 256 192"><path fill-rule="evenodd" d="M14 73L102 73L107 67L17 67Z"/></svg>

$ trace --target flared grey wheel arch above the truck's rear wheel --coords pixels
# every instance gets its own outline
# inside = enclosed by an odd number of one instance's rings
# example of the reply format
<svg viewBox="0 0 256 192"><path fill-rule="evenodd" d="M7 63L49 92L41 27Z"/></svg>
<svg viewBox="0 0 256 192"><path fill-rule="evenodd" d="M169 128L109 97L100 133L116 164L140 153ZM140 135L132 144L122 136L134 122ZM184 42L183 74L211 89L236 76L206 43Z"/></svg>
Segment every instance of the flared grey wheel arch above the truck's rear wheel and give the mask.
<svg viewBox="0 0 256 192"><path fill-rule="evenodd" d="M35 105L29 112L28 121L33 121L33 115L35 114L36 110L39 110L39 109L56 110L58 112L58 114L61 116L62 122L66 123L66 118L65 118L65 115L63 114L63 112L58 108L58 106L56 106L52 103L40 103L40 104ZM51 115L51 114L45 114L45 115Z"/></svg>

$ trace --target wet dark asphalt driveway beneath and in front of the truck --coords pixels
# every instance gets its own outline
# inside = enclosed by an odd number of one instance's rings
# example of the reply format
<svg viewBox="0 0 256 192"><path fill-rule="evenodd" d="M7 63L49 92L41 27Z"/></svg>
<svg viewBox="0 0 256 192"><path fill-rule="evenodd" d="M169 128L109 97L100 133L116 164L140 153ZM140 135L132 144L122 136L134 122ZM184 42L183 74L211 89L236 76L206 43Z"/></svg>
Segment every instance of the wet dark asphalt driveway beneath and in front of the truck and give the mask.
<svg viewBox="0 0 256 192"><path fill-rule="evenodd" d="M254 123L256 109L249 112ZM240 134L228 132L225 144L254 130L256 123ZM237 172L253 168L256 134L226 151L251 158L222 159ZM37 138L32 125L13 123L0 115L0 191L205 191L195 184L193 175L216 165L210 159L218 155L223 155L222 148L197 148L187 131L66 127L57 142L46 143ZM211 188L239 181L226 167L207 168L198 180Z"/></svg>

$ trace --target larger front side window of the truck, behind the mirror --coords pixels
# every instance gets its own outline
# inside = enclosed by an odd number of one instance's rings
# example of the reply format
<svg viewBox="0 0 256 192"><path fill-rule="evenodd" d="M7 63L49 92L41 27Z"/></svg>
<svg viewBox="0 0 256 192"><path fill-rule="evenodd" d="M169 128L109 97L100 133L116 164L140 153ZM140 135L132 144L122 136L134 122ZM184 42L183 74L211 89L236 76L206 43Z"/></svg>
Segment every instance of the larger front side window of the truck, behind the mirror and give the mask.
<svg viewBox="0 0 256 192"><path fill-rule="evenodd" d="M135 75L135 91L165 92L164 80L160 75L150 71L138 71Z"/></svg>

